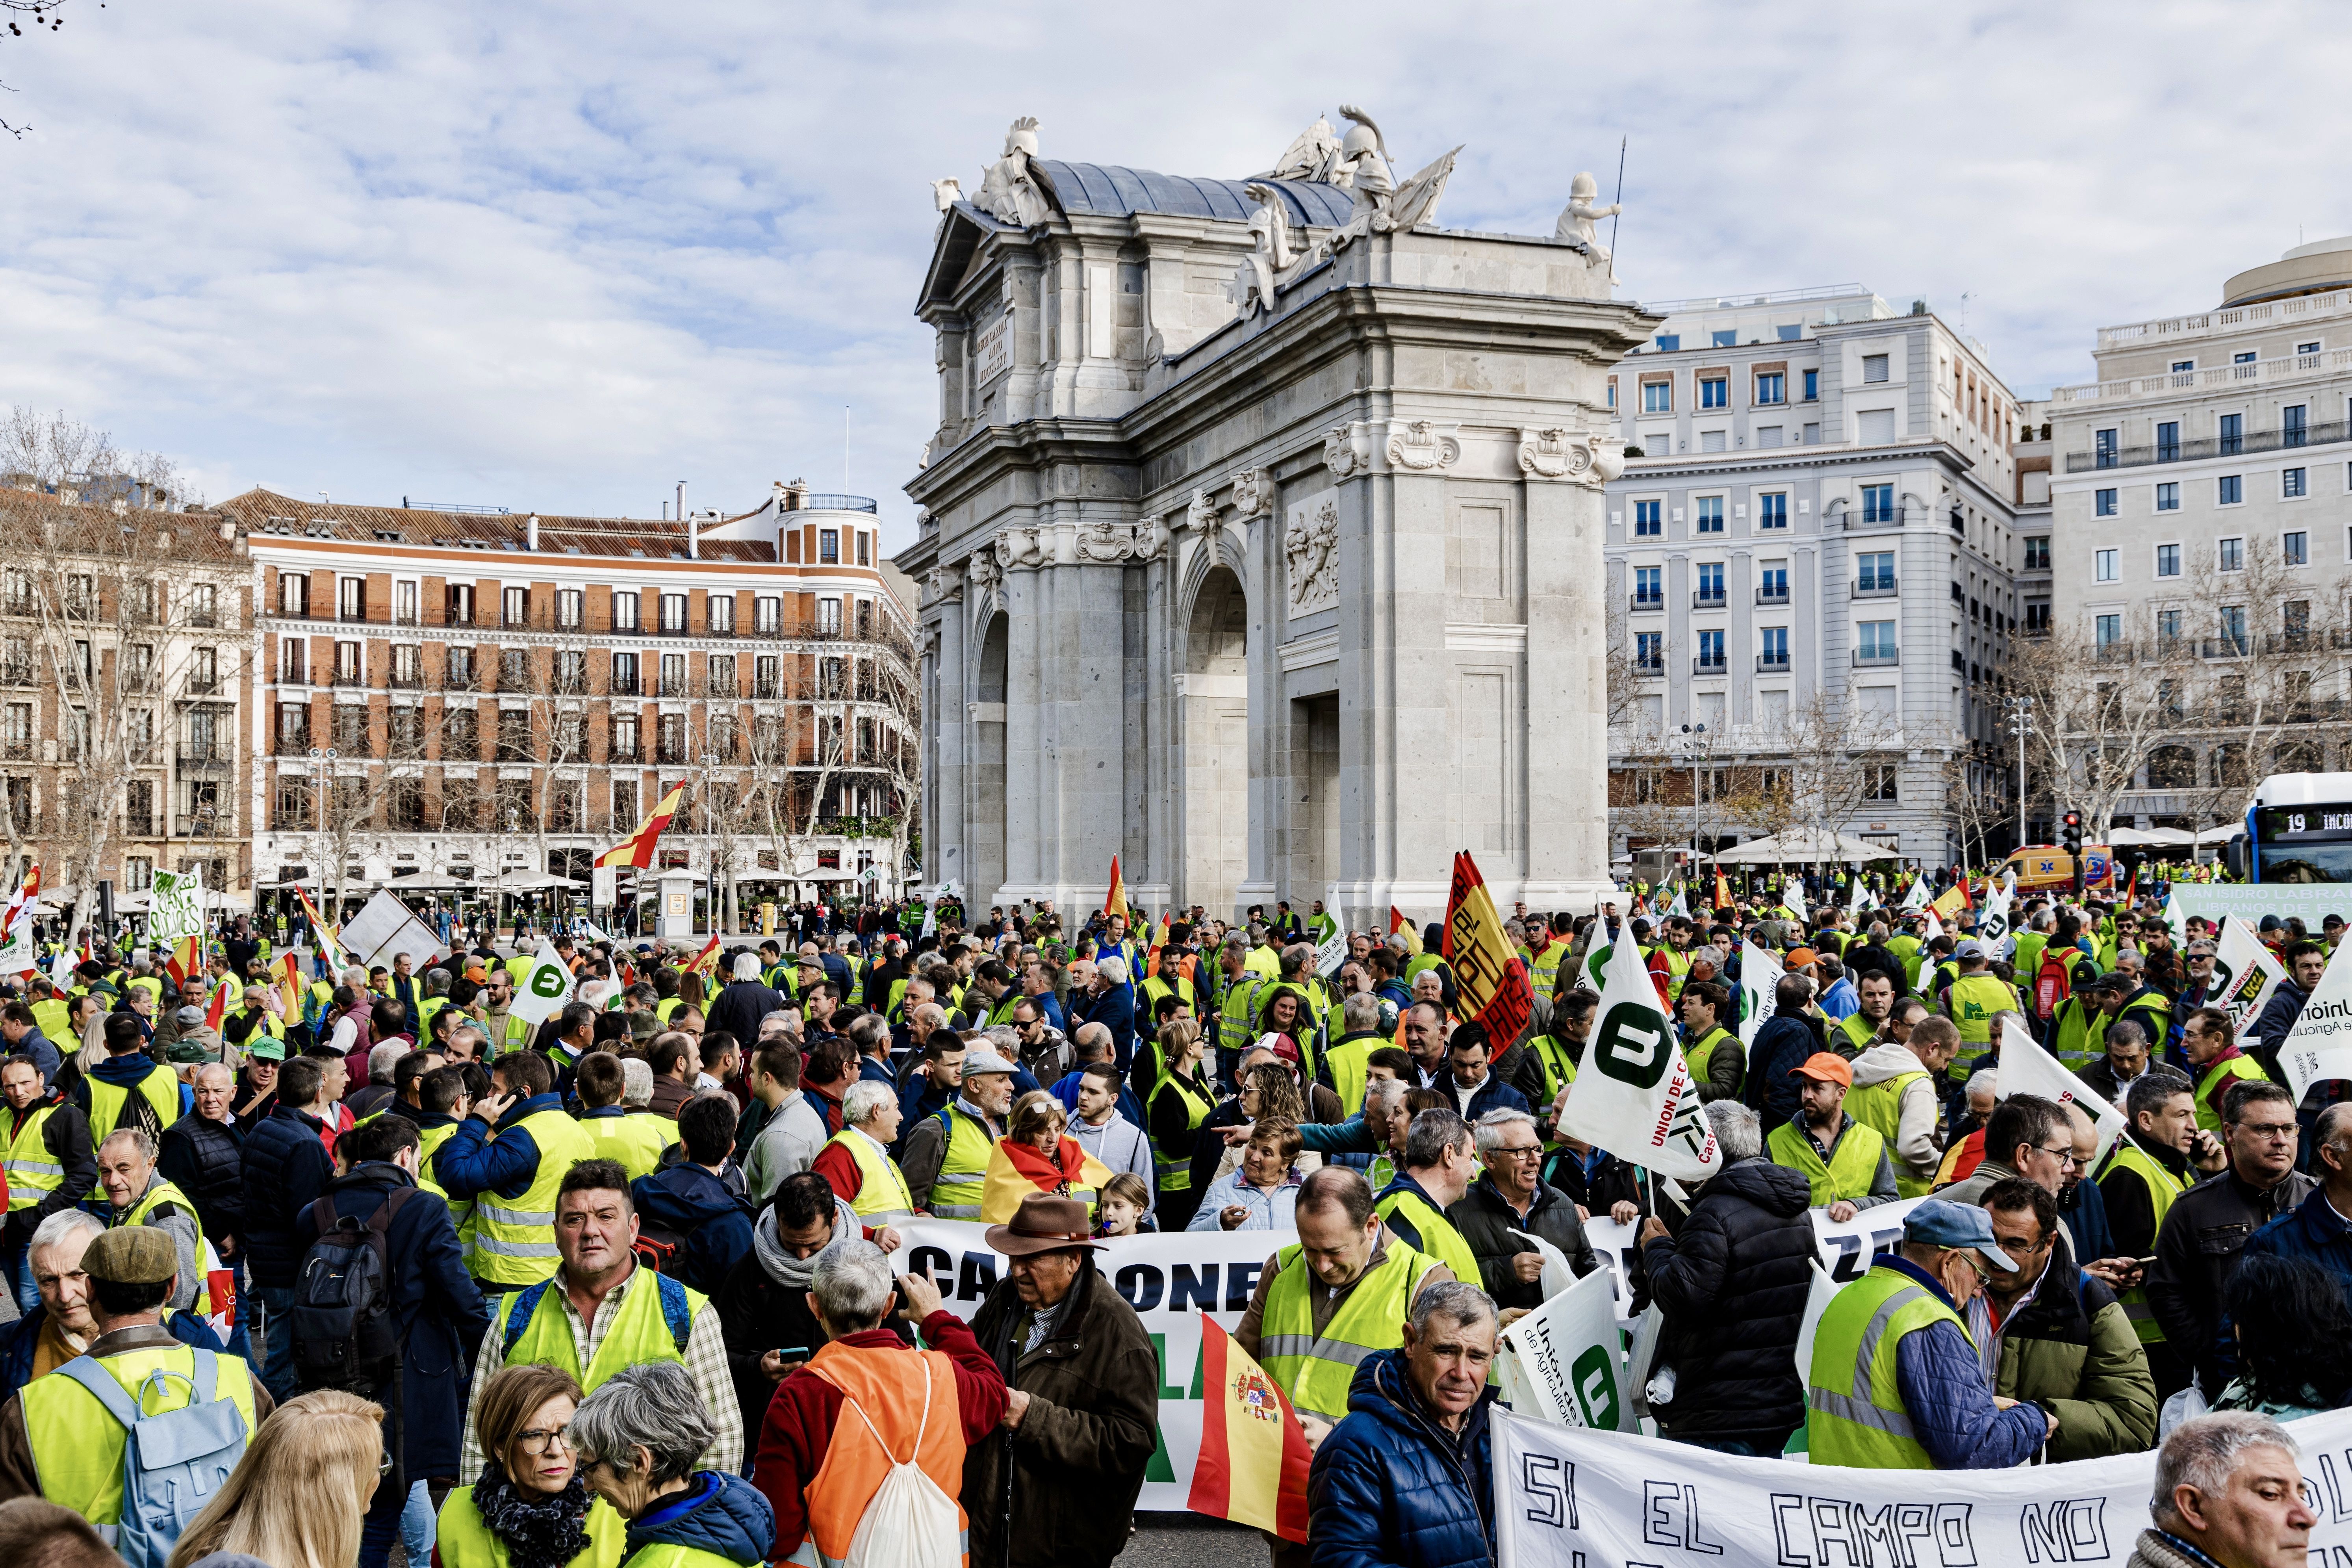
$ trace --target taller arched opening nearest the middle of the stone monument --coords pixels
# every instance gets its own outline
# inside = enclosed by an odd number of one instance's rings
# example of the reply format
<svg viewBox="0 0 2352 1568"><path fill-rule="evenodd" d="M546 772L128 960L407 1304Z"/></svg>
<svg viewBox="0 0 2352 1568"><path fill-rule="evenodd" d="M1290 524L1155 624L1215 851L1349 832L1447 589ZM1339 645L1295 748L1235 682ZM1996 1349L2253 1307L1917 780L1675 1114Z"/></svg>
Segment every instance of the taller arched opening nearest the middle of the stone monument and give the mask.
<svg viewBox="0 0 2352 1568"><path fill-rule="evenodd" d="M1183 903L1230 919L1249 877L1249 597L1230 567L1192 595L1181 691Z"/></svg>

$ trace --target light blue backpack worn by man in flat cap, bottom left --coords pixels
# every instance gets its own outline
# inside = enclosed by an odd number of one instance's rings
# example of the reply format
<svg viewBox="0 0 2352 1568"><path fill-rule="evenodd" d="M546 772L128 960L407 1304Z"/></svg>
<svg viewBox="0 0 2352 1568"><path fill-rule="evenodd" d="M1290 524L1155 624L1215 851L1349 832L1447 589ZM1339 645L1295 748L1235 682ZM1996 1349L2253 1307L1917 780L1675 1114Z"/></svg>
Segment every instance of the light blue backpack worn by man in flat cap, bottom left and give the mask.
<svg viewBox="0 0 2352 1568"><path fill-rule="evenodd" d="M56 1375L80 1382L122 1422L122 1514L113 1549L129 1568L165 1568L181 1533L228 1483L228 1472L245 1458L252 1439L245 1410L235 1401L214 1399L219 1356L195 1352L195 1373L186 1378L188 1403L162 1415L146 1413L146 1394L160 1392L179 1373L155 1368L136 1394L127 1394L89 1356L66 1361Z"/></svg>

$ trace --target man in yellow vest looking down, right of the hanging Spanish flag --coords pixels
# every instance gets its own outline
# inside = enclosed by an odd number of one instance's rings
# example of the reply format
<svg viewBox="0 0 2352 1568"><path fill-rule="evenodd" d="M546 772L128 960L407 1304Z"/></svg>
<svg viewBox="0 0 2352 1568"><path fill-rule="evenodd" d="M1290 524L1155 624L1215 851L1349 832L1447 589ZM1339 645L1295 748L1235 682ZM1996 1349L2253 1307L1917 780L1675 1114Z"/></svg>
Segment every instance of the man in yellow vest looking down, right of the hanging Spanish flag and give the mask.
<svg viewBox="0 0 2352 1568"><path fill-rule="evenodd" d="M1298 1241L1265 1260L1232 1338L1282 1385L1315 1443L1348 1415L1364 1356L1402 1349L1414 1298L1454 1272L1381 1225L1371 1187L1345 1166L1308 1173L1296 1220Z"/></svg>

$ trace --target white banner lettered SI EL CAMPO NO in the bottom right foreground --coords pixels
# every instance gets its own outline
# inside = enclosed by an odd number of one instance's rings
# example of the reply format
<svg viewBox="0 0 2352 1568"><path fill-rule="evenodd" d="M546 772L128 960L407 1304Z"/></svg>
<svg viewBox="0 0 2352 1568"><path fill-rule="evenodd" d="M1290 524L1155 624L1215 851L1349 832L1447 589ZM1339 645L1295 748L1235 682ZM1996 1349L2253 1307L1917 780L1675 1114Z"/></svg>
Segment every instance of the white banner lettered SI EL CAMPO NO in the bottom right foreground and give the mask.
<svg viewBox="0 0 2352 1568"><path fill-rule="evenodd" d="M2319 1523L2310 1561L2352 1554L2352 1410L2286 1427ZM1501 1568L2011 1568L2122 1563L2147 1528L2154 1453L1971 1469L1828 1469L1494 1413Z"/></svg>

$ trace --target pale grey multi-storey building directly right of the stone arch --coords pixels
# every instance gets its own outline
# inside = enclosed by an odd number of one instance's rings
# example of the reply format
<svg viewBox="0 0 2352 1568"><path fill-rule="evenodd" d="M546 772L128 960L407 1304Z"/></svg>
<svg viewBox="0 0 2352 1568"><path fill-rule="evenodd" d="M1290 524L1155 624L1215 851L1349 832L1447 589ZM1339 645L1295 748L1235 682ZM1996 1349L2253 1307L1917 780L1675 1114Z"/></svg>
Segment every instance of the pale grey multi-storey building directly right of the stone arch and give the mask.
<svg viewBox="0 0 2352 1568"><path fill-rule="evenodd" d="M1860 284L1651 310L1611 378L1639 454L1609 484L1616 849L1813 825L1973 858L1952 799L2004 788L2016 397Z"/></svg>

